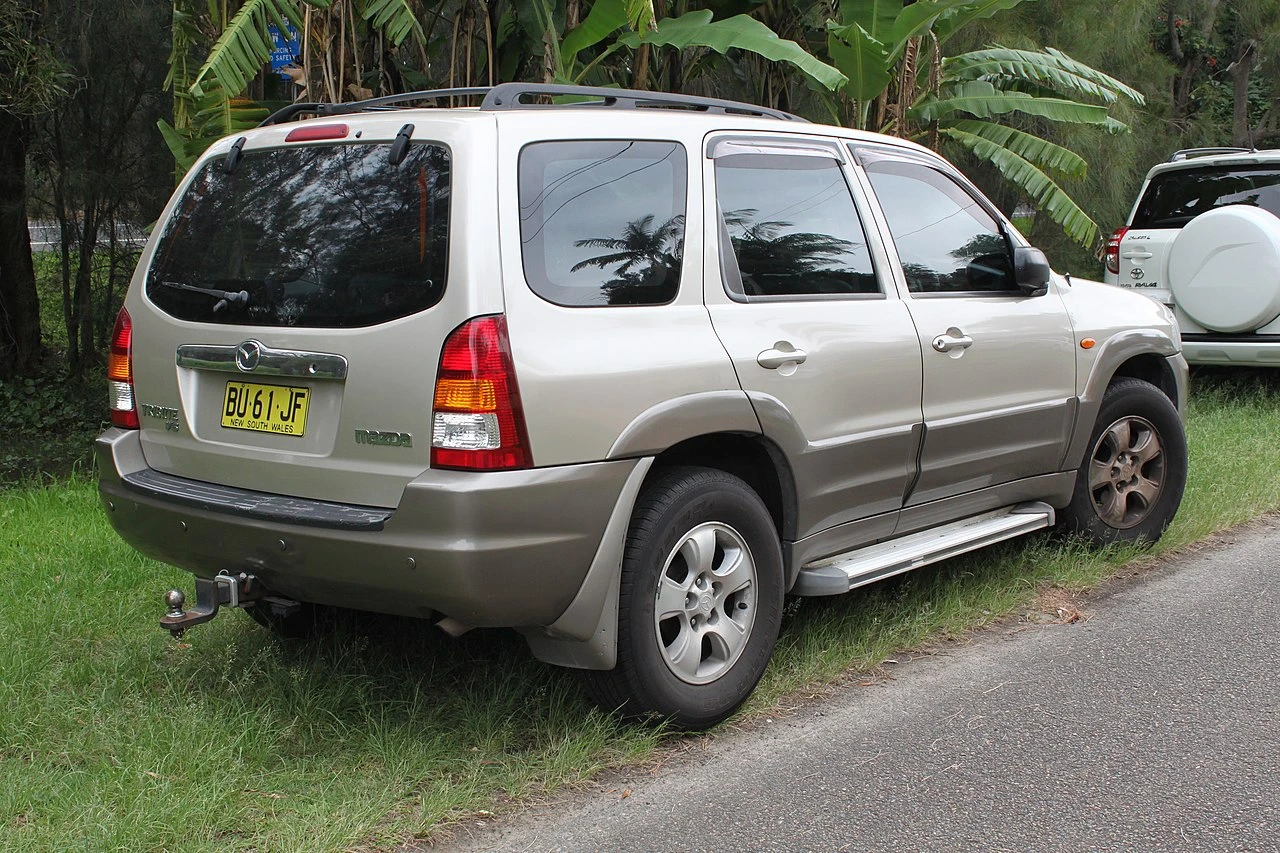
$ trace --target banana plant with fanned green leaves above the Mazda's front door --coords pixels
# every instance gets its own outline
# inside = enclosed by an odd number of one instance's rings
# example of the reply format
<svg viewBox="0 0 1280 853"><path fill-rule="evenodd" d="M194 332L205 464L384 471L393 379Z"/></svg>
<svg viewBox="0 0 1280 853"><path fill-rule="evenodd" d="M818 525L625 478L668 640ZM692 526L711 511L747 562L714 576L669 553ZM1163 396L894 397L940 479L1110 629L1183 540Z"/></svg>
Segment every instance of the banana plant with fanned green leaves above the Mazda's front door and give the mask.
<svg viewBox="0 0 1280 853"><path fill-rule="evenodd" d="M1089 246L1097 224L1060 183L1083 179L1084 160L1010 122L1025 117L1125 132L1110 108L1121 99L1140 105L1143 96L1052 47L993 46L943 59L942 45L959 29L1020 3L841 0L840 20L827 23L827 51L847 82L841 100L827 99L827 109L858 128L968 150L998 169L1071 240ZM928 64L924 74L922 63Z"/></svg>

